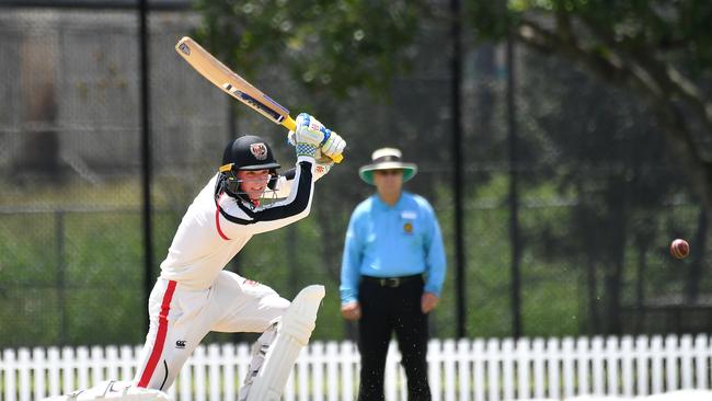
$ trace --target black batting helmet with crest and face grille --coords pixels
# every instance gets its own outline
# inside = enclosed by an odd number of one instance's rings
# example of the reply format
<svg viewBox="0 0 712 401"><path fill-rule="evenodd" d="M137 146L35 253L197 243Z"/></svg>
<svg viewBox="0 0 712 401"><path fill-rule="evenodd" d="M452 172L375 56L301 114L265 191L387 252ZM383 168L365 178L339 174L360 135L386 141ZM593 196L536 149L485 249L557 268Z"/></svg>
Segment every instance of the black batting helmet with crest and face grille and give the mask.
<svg viewBox="0 0 712 401"><path fill-rule="evenodd" d="M269 170L272 179L268 186L274 190L277 181L277 169L279 163L274 157L269 145L264 139L245 135L228 144L222 152L222 165L220 173L226 179L227 192L232 196L240 195L240 182L237 172L240 170Z"/></svg>

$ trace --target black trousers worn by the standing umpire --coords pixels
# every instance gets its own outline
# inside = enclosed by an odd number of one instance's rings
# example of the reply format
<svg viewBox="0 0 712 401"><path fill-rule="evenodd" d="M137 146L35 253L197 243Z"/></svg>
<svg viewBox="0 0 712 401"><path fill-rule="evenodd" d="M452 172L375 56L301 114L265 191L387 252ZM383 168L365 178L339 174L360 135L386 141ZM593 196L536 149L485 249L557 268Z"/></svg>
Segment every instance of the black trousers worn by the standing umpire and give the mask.
<svg viewBox="0 0 712 401"><path fill-rule="evenodd" d="M382 286L363 279L359 285L361 318L358 348L361 356L359 401L382 401L386 356L395 332L407 378L409 401L429 401L427 382L427 314L421 311L423 278Z"/></svg>

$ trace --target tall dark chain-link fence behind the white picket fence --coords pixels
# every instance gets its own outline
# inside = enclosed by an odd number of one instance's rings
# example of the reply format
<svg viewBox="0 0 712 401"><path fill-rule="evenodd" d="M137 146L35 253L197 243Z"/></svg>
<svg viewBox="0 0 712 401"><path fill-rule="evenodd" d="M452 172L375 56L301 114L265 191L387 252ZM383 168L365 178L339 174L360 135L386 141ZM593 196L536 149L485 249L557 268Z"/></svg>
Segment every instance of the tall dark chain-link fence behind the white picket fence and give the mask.
<svg viewBox="0 0 712 401"><path fill-rule="evenodd" d="M236 105L175 54L199 23L187 8L150 13L148 77L140 76L135 10L0 11L0 346L140 343L141 80L150 83L157 265L228 139L265 136L289 165L284 130ZM571 65L517 49L513 115L504 49L468 43L466 198L456 216L447 27L423 31L420 65L393 82L391 102L368 93L309 100L349 141L346 161L318 183L308 219L255 237L229 268L286 298L325 284L314 335L349 335L338 313L341 250L352 209L372 192L357 169L377 147L398 146L420 165L407 190L435 205L448 248L435 335L456 335L457 279L469 336L512 335L515 320L524 335L710 331L710 219L667 159L650 112ZM277 64L257 85L286 105L302 104L298 85L282 77ZM518 127L514 164L507 118ZM455 219L464 227L462 277L452 268ZM676 237L692 243L685 261L667 254Z"/></svg>

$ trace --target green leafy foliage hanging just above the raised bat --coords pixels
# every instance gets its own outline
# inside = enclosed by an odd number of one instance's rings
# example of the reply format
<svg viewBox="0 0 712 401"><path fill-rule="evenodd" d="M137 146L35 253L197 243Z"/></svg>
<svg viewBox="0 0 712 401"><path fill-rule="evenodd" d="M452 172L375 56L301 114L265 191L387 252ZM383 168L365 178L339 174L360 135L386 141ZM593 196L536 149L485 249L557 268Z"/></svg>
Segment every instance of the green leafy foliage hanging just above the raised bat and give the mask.
<svg viewBox="0 0 712 401"><path fill-rule="evenodd" d="M311 91L347 96L367 88L384 94L407 69L418 1L199 0L199 30L248 75L278 64Z"/></svg>

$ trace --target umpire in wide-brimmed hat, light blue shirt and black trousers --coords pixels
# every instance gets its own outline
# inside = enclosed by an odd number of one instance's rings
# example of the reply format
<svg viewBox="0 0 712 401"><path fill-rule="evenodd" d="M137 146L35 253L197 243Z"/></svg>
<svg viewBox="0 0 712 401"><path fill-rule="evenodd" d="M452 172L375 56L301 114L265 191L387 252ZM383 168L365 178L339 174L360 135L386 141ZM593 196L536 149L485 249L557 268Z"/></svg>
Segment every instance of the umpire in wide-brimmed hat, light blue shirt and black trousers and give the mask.
<svg viewBox="0 0 712 401"><path fill-rule="evenodd" d="M376 194L354 209L341 272L342 314L358 320L361 354L359 401L383 400L386 357L395 332L407 377L409 401L430 400L427 314L445 280L440 227L430 204L404 192L417 172L401 151L378 149L359 169Z"/></svg>

